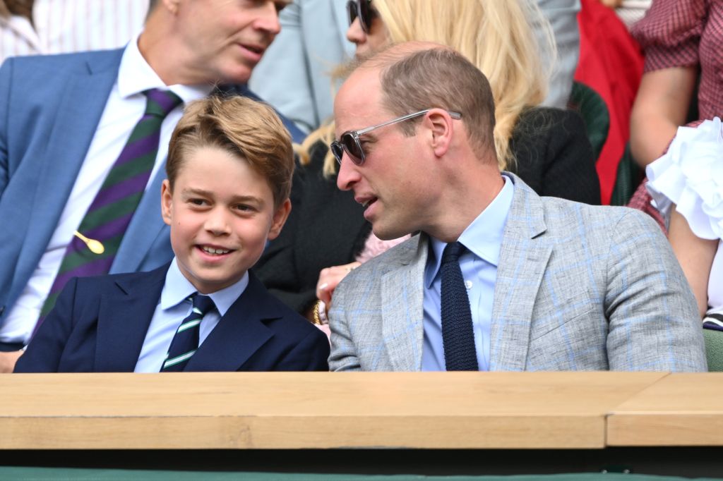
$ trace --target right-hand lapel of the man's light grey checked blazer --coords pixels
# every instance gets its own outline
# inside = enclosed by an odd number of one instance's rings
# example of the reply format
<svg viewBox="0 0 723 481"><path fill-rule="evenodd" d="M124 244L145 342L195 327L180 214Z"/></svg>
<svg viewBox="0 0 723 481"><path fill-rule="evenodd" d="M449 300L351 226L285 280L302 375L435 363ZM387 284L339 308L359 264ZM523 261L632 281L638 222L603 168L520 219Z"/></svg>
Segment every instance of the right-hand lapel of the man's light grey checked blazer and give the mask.
<svg viewBox="0 0 723 481"><path fill-rule="evenodd" d="M490 371L523 371L532 310L552 246L540 238L547 229L539 196L518 177L497 266L490 333Z"/></svg>

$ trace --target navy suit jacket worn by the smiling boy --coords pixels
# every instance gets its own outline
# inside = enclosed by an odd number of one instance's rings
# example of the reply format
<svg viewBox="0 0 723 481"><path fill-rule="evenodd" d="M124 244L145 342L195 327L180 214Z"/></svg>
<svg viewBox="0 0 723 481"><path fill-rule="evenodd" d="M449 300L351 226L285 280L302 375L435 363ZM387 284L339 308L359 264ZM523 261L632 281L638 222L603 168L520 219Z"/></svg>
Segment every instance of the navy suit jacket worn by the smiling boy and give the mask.
<svg viewBox="0 0 723 481"><path fill-rule="evenodd" d="M15 372L132 372L168 265L68 282ZM325 334L249 273L246 290L185 371L328 371L328 356Z"/></svg>

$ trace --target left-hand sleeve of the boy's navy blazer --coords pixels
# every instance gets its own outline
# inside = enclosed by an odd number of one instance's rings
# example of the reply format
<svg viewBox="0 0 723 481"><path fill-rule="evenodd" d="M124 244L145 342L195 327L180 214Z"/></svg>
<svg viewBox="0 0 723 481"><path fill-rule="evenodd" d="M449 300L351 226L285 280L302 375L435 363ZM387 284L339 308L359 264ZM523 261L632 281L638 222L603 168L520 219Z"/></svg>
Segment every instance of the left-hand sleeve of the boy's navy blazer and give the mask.
<svg viewBox="0 0 723 481"><path fill-rule="evenodd" d="M78 280L69 280L55 307L40 324L27 350L15 365L16 373L56 373L73 327Z"/></svg>

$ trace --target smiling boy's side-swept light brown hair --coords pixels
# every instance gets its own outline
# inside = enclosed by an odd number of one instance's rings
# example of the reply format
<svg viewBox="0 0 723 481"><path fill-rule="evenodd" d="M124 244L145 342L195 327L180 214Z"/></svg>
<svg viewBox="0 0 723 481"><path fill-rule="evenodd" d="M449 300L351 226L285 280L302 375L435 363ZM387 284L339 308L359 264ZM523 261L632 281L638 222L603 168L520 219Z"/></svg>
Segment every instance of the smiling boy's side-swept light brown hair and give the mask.
<svg viewBox="0 0 723 481"><path fill-rule="evenodd" d="M265 103L240 96L189 103L168 144L171 191L189 152L199 147L218 147L249 162L268 182L275 207L288 199L294 173L291 135Z"/></svg>

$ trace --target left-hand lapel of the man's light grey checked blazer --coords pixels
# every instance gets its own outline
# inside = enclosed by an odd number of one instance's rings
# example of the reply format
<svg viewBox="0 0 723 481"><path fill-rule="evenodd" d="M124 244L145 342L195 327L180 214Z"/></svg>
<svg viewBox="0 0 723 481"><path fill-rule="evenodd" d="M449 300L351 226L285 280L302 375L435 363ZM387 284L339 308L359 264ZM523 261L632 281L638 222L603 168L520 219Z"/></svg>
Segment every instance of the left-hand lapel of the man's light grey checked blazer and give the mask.
<svg viewBox="0 0 723 481"><path fill-rule="evenodd" d="M396 269L382 276L382 334L394 371L422 370L427 237L406 243Z"/></svg>

